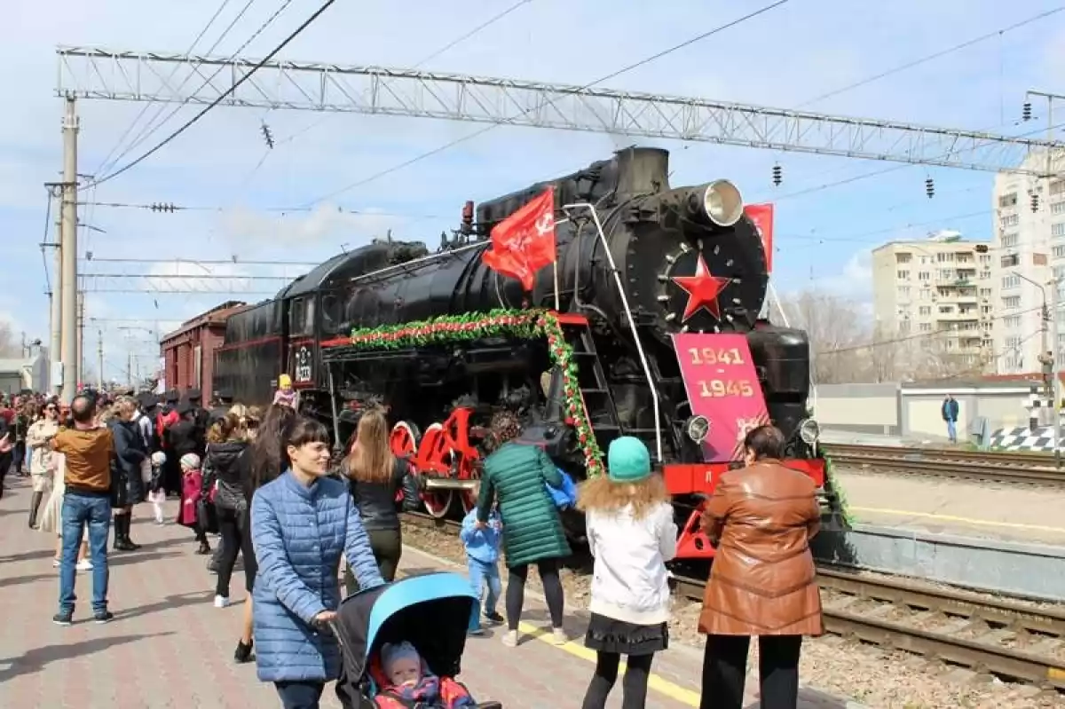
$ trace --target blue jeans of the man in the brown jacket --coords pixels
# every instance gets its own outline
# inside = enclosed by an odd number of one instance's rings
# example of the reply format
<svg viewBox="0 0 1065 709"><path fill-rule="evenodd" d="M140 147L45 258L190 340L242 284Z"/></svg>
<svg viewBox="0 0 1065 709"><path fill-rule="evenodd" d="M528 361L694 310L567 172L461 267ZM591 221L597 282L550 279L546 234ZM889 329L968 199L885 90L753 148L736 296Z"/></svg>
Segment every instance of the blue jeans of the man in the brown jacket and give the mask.
<svg viewBox="0 0 1065 709"><path fill-rule="evenodd" d="M93 562L93 612L108 610L108 534L111 531L111 498L82 495L69 490L63 495L63 559L60 563L60 612L73 612L75 564L78 547L88 526L88 558Z"/></svg>

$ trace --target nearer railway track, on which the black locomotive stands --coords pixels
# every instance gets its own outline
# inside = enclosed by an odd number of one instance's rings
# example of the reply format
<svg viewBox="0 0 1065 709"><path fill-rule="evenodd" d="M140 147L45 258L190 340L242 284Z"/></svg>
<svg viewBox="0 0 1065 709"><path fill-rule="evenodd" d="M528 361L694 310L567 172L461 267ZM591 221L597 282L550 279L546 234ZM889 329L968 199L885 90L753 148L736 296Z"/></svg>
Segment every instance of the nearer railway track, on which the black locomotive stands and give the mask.
<svg viewBox="0 0 1065 709"><path fill-rule="evenodd" d="M458 523L408 513L420 527ZM676 577L678 596L701 601L706 582ZM1065 691L1065 612L905 578L818 570L825 629L929 659Z"/></svg>

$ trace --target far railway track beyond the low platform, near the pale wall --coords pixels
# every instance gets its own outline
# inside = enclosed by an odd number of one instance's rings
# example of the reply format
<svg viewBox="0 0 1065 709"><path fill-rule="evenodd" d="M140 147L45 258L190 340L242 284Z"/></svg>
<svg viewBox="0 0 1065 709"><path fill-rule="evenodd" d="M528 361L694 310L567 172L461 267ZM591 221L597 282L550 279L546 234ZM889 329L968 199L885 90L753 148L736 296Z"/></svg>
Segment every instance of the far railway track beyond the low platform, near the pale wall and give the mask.
<svg viewBox="0 0 1065 709"><path fill-rule="evenodd" d="M839 467L872 467L878 472L910 475L1065 485L1065 468L1056 469L1053 457L1046 454L854 444L826 445L824 451Z"/></svg>

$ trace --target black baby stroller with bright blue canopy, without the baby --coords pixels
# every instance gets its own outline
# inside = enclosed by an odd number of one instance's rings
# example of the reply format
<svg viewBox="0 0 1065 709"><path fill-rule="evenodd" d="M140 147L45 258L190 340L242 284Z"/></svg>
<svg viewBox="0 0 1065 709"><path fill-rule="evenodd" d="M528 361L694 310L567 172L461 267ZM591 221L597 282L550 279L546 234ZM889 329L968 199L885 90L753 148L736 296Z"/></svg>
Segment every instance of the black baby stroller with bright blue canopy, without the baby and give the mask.
<svg viewBox="0 0 1065 709"><path fill-rule="evenodd" d="M376 659L384 643L411 643L433 675L454 678L477 603L470 581L450 573L411 576L345 598L331 624L342 657L337 681L341 706L377 708L382 677ZM498 702L476 707L503 709Z"/></svg>

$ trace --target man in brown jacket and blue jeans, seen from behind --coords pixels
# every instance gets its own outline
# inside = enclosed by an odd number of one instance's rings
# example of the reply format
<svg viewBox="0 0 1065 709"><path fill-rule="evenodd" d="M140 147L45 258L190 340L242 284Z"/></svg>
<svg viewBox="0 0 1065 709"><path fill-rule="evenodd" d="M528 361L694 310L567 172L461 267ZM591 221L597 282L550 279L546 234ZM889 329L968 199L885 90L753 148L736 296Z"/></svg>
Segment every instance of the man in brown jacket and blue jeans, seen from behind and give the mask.
<svg viewBox="0 0 1065 709"><path fill-rule="evenodd" d="M108 610L108 533L111 530L111 460L115 443L111 431L97 427L96 402L79 394L70 403L73 428L52 439L52 450L65 460L63 493L63 560L60 564L60 612L56 625L73 622L75 564L85 526L93 562L93 616L97 623L114 617Z"/></svg>

